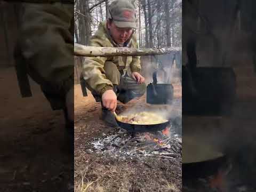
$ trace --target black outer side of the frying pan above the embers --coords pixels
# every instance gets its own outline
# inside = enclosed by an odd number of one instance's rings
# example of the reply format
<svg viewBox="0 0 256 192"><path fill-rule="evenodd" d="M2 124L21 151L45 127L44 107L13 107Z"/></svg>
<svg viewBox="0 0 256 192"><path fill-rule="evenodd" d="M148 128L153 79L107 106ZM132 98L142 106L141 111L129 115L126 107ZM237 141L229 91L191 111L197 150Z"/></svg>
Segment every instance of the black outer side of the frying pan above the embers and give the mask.
<svg viewBox="0 0 256 192"><path fill-rule="evenodd" d="M164 123L158 123L158 124L144 124L144 125L125 123L125 122L119 121L119 119L117 119L117 116L116 116L116 121L120 127L122 127L123 129L127 130L130 133L156 132L159 130L164 130L165 127L169 125L169 121L166 121Z"/></svg>

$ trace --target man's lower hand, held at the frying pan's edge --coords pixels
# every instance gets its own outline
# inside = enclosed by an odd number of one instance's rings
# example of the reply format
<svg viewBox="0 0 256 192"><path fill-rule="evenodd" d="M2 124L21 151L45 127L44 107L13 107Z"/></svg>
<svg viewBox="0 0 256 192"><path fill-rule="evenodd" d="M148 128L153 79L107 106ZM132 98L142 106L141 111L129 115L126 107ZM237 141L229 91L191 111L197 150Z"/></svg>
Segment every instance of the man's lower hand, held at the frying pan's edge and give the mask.
<svg viewBox="0 0 256 192"><path fill-rule="evenodd" d="M117 97L116 93L113 90L107 90L102 94L102 104L110 111L116 110Z"/></svg>

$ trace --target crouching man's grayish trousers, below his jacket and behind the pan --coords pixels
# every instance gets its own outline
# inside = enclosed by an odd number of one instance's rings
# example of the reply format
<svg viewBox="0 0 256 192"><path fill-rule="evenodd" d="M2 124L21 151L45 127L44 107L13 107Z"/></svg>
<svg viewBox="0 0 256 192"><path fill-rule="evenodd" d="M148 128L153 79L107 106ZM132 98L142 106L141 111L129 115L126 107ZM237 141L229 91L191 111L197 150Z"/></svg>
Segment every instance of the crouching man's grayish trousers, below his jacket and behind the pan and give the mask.
<svg viewBox="0 0 256 192"><path fill-rule="evenodd" d="M107 65L106 65L107 64ZM115 63L107 61L104 66L106 77L113 83L117 100L127 103L134 98L141 97L146 92L146 84L138 84L132 77L121 75ZM101 101L101 96L93 92L93 97L97 102Z"/></svg>

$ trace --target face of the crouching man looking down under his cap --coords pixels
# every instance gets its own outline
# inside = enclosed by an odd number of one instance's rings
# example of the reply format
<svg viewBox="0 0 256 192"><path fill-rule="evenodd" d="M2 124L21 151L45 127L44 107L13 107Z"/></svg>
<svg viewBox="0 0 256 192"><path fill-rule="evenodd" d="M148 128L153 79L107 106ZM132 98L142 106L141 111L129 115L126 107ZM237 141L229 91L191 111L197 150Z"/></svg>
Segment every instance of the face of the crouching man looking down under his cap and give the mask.
<svg viewBox="0 0 256 192"><path fill-rule="evenodd" d="M132 35L132 28L119 28L114 22L107 22L108 29L114 41L118 44L123 44Z"/></svg>

